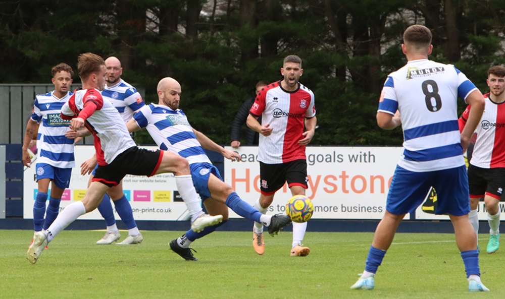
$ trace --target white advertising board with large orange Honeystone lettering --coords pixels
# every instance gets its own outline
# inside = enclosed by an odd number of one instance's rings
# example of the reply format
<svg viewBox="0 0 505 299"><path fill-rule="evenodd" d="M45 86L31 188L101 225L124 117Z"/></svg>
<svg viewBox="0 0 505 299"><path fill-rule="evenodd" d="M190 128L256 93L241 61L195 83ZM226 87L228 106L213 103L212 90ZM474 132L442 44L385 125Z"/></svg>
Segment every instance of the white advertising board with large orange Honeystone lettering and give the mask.
<svg viewBox="0 0 505 299"><path fill-rule="evenodd" d="M253 204L260 194L257 147L240 147L242 161L225 160L225 181ZM307 147L314 219L381 219L401 147ZM291 193L277 191L269 213L284 212ZM232 213L230 213L232 214Z"/></svg>

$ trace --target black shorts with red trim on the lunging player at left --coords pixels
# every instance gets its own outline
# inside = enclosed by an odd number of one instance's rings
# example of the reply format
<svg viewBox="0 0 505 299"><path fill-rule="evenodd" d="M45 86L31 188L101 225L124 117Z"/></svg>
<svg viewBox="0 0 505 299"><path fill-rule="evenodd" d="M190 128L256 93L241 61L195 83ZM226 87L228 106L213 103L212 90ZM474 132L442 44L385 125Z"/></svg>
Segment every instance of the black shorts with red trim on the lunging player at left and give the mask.
<svg viewBox="0 0 505 299"><path fill-rule="evenodd" d="M109 187L118 185L126 174L151 176L160 167L163 152L152 151L136 146L119 154L108 165L98 165L93 182L97 181Z"/></svg>

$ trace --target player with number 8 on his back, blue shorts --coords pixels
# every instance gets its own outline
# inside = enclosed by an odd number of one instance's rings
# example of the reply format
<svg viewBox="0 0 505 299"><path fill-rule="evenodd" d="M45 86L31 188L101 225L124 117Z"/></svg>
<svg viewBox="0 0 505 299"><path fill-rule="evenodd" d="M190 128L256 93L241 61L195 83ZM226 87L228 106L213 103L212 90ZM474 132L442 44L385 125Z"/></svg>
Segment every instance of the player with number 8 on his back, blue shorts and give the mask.
<svg viewBox="0 0 505 299"><path fill-rule="evenodd" d="M365 271L352 289L375 287L375 273L396 228L407 213L422 204L433 187L438 195L435 214L448 214L454 226L468 290L489 291L480 280L477 239L468 218L470 195L463 158L484 111L484 97L454 66L428 59L433 49L431 38L431 31L422 25L405 30L401 49L407 65L389 74L382 89L377 124L386 130L401 126L405 150L394 171L386 212L377 225ZM461 134L458 97L472 105Z"/></svg>

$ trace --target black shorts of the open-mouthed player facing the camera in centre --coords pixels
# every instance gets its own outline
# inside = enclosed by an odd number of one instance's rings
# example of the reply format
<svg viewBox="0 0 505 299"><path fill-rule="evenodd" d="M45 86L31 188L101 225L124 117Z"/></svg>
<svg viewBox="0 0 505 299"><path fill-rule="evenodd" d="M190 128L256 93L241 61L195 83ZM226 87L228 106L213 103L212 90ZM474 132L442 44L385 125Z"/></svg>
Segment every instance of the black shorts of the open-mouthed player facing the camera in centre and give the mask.
<svg viewBox="0 0 505 299"><path fill-rule="evenodd" d="M289 187L301 186L308 188L307 160L294 160L281 164L265 164L260 162L261 193L274 194L287 182Z"/></svg>

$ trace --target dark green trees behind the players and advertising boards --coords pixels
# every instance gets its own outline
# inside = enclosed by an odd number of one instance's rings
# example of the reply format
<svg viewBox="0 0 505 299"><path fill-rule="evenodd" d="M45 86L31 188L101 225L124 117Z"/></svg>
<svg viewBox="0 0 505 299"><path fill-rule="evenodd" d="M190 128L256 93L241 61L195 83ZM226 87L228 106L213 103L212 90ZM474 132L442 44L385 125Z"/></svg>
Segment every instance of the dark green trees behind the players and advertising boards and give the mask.
<svg viewBox="0 0 505 299"><path fill-rule="evenodd" d="M77 55L120 58L123 78L157 101L166 76L182 85L195 129L228 144L230 125L257 81L281 79L282 58L304 59L300 81L316 95L312 144L399 145L380 130L377 101L388 73L406 63L402 32L423 24L432 59L454 64L483 92L489 66L503 64L499 0L112 0L1 3L0 80L47 83L52 66ZM75 82L79 79L77 75ZM465 104L460 102L460 110ZM151 143L148 135L136 136Z"/></svg>

